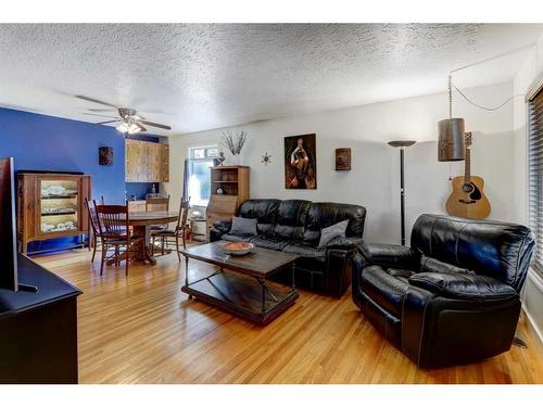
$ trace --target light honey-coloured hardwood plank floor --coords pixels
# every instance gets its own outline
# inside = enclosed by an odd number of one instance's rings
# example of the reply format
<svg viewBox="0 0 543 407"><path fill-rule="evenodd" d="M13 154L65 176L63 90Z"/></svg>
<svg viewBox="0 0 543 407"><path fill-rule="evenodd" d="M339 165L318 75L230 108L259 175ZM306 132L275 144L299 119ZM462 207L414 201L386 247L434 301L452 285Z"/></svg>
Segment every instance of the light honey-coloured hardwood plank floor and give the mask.
<svg viewBox="0 0 543 407"><path fill-rule="evenodd" d="M81 383L543 383L543 353L523 319L528 349L425 371L364 319L350 292L334 300L302 291L261 328L189 301L175 254L127 278L113 266L100 277L86 251L35 259L84 291Z"/></svg>

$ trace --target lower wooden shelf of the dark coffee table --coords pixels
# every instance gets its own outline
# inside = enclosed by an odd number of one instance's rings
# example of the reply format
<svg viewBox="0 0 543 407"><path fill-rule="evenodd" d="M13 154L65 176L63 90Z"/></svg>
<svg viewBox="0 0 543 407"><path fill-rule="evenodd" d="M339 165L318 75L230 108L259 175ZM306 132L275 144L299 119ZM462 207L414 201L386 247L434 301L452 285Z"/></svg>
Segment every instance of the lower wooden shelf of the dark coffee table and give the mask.
<svg viewBox="0 0 543 407"><path fill-rule="evenodd" d="M224 271L207 279L184 285L181 291L193 297L250 321L267 325L281 315L299 297L290 287L266 281L277 298L266 294L262 309L262 285L253 277Z"/></svg>

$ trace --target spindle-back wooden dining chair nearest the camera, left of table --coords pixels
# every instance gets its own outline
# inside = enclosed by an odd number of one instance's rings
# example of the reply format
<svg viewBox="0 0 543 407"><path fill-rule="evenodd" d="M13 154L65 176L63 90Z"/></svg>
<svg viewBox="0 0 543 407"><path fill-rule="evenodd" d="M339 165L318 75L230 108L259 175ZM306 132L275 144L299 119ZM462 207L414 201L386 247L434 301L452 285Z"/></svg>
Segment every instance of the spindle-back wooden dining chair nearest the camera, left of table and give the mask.
<svg viewBox="0 0 543 407"><path fill-rule="evenodd" d="M115 266L118 266L123 259L122 257L126 260L125 274L128 276L130 255L136 252L138 246L144 246L144 237L130 234L128 205L97 205L94 201L94 208L102 243L100 276L103 274L105 262L112 259ZM114 250L114 253L108 257L108 252L111 249ZM124 249L123 252L122 249Z"/></svg>

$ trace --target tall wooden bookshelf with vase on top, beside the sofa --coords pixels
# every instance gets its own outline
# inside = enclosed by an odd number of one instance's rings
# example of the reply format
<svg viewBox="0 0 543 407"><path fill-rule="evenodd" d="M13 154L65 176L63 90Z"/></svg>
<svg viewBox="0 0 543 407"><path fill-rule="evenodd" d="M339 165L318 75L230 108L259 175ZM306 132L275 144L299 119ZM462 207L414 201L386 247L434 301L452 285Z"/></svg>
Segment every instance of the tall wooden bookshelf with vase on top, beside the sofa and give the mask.
<svg viewBox="0 0 543 407"><path fill-rule="evenodd" d="M223 192L223 193L220 193ZM211 167L211 196L207 205L207 229L217 220L230 220L249 199L249 167L223 165Z"/></svg>

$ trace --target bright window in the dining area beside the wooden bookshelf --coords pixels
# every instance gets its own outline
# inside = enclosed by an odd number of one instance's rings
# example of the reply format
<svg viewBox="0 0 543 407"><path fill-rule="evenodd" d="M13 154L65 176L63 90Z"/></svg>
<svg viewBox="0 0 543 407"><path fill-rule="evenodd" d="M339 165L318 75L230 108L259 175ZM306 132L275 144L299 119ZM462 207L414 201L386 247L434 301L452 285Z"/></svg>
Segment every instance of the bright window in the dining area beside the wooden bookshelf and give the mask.
<svg viewBox="0 0 543 407"><path fill-rule="evenodd" d="M207 206L211 193L213 158L218 156L216 145L189 149L189 196L191 205Z"/></svg>

